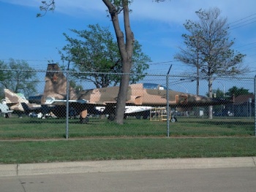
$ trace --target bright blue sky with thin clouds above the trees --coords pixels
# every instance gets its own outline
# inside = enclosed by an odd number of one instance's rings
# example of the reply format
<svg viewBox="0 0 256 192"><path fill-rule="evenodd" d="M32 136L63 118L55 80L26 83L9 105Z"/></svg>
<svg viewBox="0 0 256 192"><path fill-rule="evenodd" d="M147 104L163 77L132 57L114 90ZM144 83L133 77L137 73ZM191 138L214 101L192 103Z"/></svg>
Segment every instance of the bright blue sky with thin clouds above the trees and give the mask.
<svg viewBox="0 0 256 192"><path fill-rule="evenodd" d="M67 44L63 33L69 29L86 29L99 23L113 31L101 0L56 0L56 10L36 18L41 0L0 0L0 60L9 58L28 61L35 69L46 69L48 61L59 62L58 50ZM256 1L255 0L134 0L130 15L132 31L151 57L148 73L166 74L170 64L172 73L181 74L187 67L173 62L173 55L181 46L183 23L197 20L195 11L218 7L222 17L230 23L230 37L236 38L234 50L246 54L244 65L256 74Z"/></svg>

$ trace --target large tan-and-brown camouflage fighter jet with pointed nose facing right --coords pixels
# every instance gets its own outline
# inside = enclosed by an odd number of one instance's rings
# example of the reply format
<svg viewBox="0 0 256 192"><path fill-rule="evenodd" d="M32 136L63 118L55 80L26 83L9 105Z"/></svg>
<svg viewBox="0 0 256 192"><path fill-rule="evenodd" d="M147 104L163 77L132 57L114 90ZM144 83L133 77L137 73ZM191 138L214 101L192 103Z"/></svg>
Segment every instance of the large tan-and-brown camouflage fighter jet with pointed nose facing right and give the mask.
<svg viewBox="0 0 256 192"><path fill-rule="evenodd" d="M114 114L118 96L118 86L75 91L69 86L69 107L80 114L80 122L86 122L88 113L95 107L105 107L105 114ZM48 64L45 74L45 90L41 104L67 104L67 79L57 64ZM199 107L232 103L230 100L211 99L207 96L195 96L189 93L169 90L170 107ZM154 83L129 85L127 106L166 107L167 88ZM58 114L55 114L59 116Z"/></svg>

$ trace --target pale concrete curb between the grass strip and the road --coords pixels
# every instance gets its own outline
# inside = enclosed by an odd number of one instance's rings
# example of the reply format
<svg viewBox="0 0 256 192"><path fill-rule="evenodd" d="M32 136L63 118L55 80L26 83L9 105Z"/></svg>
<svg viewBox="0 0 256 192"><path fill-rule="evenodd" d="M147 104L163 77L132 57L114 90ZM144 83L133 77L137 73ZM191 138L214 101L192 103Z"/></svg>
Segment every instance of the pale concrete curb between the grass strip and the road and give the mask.
<svg viewBox="0 0 256 192"><path fill-rule="evenodd" d="M256 157L165 158L111 161L76 161L42 164L0 164L0 177L85 172L129 172L164 169L256 167Z"/></svg>

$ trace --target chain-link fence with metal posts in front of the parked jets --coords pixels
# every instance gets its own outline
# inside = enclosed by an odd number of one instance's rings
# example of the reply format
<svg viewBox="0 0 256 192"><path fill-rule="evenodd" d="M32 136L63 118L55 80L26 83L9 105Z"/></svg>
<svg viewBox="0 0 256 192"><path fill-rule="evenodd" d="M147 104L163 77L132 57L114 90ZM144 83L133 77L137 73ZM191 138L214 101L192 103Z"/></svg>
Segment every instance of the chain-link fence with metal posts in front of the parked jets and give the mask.
<svg viewBox="0 0 256 192"><path fill-rule="evenodd" d="M29 78L18 76L29 75L26 70L0 72L12 74L1 80L0 139L255 136L255 77L214 78L209 89L207 77L146 74L129 85L124 123L118 124L119 87L113 85L128 74L54 67ZM106 82L107 88L95 88Z"/></svg>

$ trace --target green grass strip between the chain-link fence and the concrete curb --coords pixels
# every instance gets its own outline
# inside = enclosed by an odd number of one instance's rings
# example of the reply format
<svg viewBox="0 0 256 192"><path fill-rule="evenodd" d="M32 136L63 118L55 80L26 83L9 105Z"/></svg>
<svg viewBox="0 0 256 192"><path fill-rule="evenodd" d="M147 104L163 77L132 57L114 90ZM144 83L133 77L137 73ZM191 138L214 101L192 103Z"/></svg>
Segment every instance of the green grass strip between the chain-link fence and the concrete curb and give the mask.
<svg viewBox="0 0 256 192"><path fill-rule="evenodd" d="M141 158L256 156L256 138L2 141L0 164Z"/></svg>

